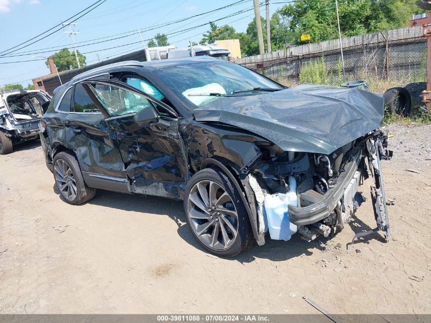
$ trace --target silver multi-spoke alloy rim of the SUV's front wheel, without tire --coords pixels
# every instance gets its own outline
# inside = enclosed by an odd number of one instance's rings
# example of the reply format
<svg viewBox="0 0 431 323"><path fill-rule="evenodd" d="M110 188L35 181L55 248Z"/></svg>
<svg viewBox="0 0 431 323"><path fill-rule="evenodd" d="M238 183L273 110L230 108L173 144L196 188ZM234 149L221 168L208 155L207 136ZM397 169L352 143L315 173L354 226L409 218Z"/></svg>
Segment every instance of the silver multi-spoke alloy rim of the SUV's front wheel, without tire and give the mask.
<svg viewBox="0 0 431 323"><path fill-rule="evenodd" d="M200 241L224 250L238 235L238 213L232 197L213 181L196 183L188 198L190 225Z"/></svg>

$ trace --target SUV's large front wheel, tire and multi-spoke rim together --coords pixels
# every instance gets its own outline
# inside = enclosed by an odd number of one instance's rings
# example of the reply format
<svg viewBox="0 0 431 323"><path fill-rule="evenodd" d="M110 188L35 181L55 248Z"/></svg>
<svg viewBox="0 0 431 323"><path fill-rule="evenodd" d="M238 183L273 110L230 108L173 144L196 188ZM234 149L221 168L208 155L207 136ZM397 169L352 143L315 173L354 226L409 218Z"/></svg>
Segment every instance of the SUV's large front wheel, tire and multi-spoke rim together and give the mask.
<svg viewBox="0 0 431 323"><path fill-rule="evenodd" d="M219 168L198 171L187 184L186 221L209 252L233 257L255 241L240 193Z"/></svg>

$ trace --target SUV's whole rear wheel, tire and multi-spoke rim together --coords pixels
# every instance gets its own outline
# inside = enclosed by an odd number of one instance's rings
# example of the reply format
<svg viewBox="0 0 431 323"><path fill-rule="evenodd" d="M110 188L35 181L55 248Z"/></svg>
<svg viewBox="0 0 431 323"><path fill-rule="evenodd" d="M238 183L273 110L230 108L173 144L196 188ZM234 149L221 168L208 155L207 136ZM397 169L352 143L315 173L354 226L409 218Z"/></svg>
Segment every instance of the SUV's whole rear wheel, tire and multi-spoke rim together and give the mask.
<svg viewBox="0 0 431 323"><path fill-rule="evenodd" d="M54 157L53 165L54 180L67 203L82 204L96 195L96 189L85 184L80 166L74 156L66 152L58 153Z"/></svg>

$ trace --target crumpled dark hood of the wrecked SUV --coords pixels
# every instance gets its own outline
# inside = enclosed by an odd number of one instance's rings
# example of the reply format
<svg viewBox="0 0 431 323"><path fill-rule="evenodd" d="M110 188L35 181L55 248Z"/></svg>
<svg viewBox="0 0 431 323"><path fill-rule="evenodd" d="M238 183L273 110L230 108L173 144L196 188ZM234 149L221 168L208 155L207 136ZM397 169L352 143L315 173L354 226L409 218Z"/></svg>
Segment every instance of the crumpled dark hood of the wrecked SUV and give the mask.
<svg viewBox="0 0 431 323"><path fill-rule="evenodd" d="M284 151L331 154L380 127L383 96L359 89L300 85L258 95L220 97L193 110L255 133Z"/></svg>

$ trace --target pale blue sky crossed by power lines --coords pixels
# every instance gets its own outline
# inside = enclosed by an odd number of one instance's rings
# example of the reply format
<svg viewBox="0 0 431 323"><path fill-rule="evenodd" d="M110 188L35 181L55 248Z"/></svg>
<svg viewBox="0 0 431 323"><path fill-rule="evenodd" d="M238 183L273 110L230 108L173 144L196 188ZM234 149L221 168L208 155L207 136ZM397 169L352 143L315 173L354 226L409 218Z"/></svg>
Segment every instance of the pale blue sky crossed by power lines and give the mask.
<svg viewBox="0 0 431 323"><path fill-rule="evenodd" d="M244 3L219 10L211 14L195 17L187 21L161 27L156 30L145 31L146 29L153 27L155 24L166 23L199 13L204 13L230 5L237 1L238 0L107 0L84 17L77 20L78 24L74 29L75 31L79 31L80 34L75 36L75 42L89 41L95 38L107 37L137 30L138 28L143 30L142 37L146 40L154 37L157 32L168 34L175 31L181 31L207 23L211 20L222 18L240 10L252 8L252 0L246 0ZM0 52L54 27L56 24L78 13L94 2L95 0L0 0L0 30L2 31ZM276 0L275 2L281 1ZM270 14L272 15L272 13L281 6L283 6L283 4L271 4ZM261 7L261 15L265 15L264 7ZM254 12L253 10L250 10L236 16L220 20L217 24L218 26L221 26L222 24L230 24L238 32L242 32L245 31L247 24L253 17ZM202 26L194 30L168 36L168 41L177 47L184 47L187 46L189 39L198 42L202 37L202 33L207 30L209 30L208 25ZM81 53L97 51L99 58L104 60L141 49L142 44L137 43L114 49L104 49L139 41L139 34L135 34L129 37L87 46L82 46L86 43L78 43L77 46ZM59 47L48 53L0 58L0 63L35 60L32 62L0 64L0 83L21 83L22 85L27 86L27 84L31 83L31 79L48 74L49 71L45 65L44 59L34 56L47 57L54 54L56 50L58 51L62 47L71 47L70 37L68 34L58 31L42 41L36 42L35 44L17 51L41 52L39 50L41 48L55 46ZM44 49L44 51L47 50L48 49ZM49 49L49 51L51 51L51 49ZM17 53L10 55L16 54ZM97 62L96 53L85 54L85 56L87 57L88 65Z"/></svg>

